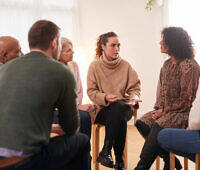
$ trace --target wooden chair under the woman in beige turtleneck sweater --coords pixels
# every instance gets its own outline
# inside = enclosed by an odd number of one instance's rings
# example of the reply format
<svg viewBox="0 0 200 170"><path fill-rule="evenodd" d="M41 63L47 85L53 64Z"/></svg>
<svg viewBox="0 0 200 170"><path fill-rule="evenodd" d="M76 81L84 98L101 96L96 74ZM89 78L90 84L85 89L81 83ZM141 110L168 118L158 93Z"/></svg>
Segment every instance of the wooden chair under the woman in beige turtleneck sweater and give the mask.
<svg viewBox="0 0 200 170"><path fill-rule="evenodd" d="M138 109L138 108L137 108ZM134 123L137 120L137 109L134 109L133 116L134 116ZM95 165L95 170L99 170L99 163L96 161L99 155L99 148L100 148L100 129L104 127L100 124L93 124L92 125L92 162ZM128 133L128 132L127 132ZM125 142L124 148L124 167L127 169L128 167L128 153L127 153L127 138Z"/></svg>

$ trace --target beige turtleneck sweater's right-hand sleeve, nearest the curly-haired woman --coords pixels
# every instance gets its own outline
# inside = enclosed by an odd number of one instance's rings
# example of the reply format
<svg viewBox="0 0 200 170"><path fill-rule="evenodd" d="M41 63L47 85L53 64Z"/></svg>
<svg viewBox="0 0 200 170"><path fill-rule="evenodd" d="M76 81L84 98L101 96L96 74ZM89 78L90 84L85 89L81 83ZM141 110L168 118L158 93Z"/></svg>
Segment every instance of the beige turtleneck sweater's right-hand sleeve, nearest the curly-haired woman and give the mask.
<svg viewBox="0 0 200 170"><path fill-rule="evenodd" d="M139 99L140 91L141 88L138 75L136 71L129 65L126 93L129 95L129 99Z"/></svg>

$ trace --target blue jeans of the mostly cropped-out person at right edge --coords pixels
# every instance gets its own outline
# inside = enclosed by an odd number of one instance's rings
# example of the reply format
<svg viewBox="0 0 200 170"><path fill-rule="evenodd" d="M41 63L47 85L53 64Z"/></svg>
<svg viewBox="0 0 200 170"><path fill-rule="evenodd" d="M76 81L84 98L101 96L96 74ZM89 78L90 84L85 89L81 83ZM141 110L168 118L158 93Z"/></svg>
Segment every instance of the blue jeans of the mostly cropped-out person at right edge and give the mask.
<svg viewBox="0 0 200 170"><path fill-rule="evenodd" d="M184 156L195 161L200 153L200 131L167 128L160 131L158 143L168 152Z"/></svg>

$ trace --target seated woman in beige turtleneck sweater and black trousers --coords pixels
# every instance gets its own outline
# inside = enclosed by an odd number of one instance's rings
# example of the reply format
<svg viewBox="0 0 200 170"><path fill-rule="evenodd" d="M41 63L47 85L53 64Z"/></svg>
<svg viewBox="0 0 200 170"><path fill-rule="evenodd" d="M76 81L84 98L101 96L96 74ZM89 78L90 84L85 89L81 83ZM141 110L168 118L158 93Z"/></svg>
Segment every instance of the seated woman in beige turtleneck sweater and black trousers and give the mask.
<svg viewBox="0 0 200 170"><path fill-rule="evenodd" d="M119 56L120 43L114 32L99 36L96 60L90 64L87 85L88 96L96 105L95 123L105 125L106 135L97 161L116 170L124 169L123 150L127 121L132 107L140 102L140 80L131 65ZM113 165L111 149L116 164Z"/></svg>

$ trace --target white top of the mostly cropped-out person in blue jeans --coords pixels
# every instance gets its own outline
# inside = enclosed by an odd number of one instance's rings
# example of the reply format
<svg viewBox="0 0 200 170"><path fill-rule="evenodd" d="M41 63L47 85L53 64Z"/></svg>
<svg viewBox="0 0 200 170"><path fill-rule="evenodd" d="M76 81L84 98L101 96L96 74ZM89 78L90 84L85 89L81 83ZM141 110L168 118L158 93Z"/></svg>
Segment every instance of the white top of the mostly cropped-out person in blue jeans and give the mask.
<svg viewBox="0 0 200 170"><path fill-rule="evenodd" d="M199 83L200 83L200 80L199 80ZM190 130L200 130L200 87L198 87L196 98L190 110L189 128Z"/></svg>

